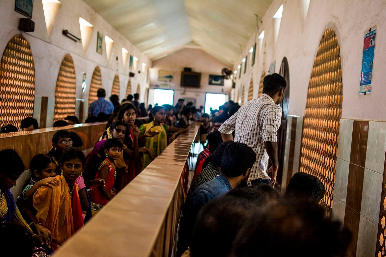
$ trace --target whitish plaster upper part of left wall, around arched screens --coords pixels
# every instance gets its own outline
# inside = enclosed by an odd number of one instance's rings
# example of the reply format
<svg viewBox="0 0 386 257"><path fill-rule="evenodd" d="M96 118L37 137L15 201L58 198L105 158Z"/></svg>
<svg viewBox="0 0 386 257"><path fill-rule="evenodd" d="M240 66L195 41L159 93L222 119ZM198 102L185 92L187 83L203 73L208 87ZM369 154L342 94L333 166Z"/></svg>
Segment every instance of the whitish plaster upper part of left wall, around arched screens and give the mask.
<svg viewBox="0 0 386 257"><path fill-rule="evenodd" d="M8 41L20 34L17 29L19 19L25 18L24 15L14 11L15 1L0 0L0 53L7 46ZM74 42L62 34L63 29L67 29L72 34L80 37L79 17L86 19L94 25L90 44L83 52L82 44ZM140 100L144 100L146 84L144 75L138 74L142 68L142 63L148 67L152 66L152 61L146 57L137 47L125 39L119 32L100 17L91 7L81 0L61 0L61 6L56 15L51 34L48 35L44 12L41 0L35 0L33 6L32 20L35 22L34 32L22 32L22 35L29 41L35 65L35 95L48 96L54 98L56 79L59 72L61 61L65 54L71 54L73 57L76 73L76 98L85 99L85 114L88 106L88 92L91 83L91 76L95 66L99 66L102 74L102 86L106 89L107 98L111 94L113 79L115 74L119 74L120 81L120 99L125 98L127 81L129 80L129 58L125 66L122 62L122 47L129 51L129 55L139 58L137 69L132 78L132 85L141 84ZM103 36L107 35L114 40L114 46L110 60L107 60L105 40L103 39L103 54L96 52L97 33L101 32ZM116 60L118 57L118 61ZM130 70L131 71L131 70ZM87 88L83 93L81 90L83 72L86 72ZM49 104L52 101L49 101ZM49 106L53 110L53 106ZM35 115L34 115L35 116ZM84 117L86 117L85 115ZM40 118L40 117L39 117ZM52 119L47 117L47 127L51 126Z"/></svg>

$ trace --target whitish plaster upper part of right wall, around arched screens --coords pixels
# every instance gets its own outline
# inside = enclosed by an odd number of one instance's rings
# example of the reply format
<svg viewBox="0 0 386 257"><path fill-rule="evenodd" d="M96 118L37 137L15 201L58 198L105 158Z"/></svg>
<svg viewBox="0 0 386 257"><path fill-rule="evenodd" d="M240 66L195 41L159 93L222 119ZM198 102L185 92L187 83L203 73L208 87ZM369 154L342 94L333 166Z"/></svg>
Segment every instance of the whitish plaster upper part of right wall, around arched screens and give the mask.
<svg viewBox="0 0 386 257"><path fill-rule="evenodd" d="M274 42L274 19L279 6L284 3L283 17L277 42ZM308 81L313 61L323 32L332 27L338 37L342 63L343 105L342 118L361 120L386 120L386 2L384 0L311 0L308 13L304 17L303 0L274 0L262 18L259 33L265 30L262 51L257 49L256 64L237 76L236 90L245 84L245 91L251 74L254 77L254 97L257 96L262 70L266 73L269 64L276 60L275 72L283 57L289 64L290 101L289 113L303 116L305 113ZM372 93L359 96L364 30L378 25L374 56ZM259 34L257 33L257 35ZM243 54L235 62L234 69L255 42L256 34L243 49ZM257 40L257 45L259 42ZM245 95L246 95L245 93ZM245 96L246 97L246 96Z"/></svg>

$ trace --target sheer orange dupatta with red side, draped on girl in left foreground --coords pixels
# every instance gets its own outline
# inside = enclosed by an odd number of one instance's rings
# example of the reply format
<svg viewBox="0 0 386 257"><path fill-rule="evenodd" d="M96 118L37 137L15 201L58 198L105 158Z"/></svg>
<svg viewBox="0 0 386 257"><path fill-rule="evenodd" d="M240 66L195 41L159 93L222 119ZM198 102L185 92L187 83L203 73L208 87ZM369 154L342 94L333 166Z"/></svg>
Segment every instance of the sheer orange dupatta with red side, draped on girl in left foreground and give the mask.
<svg viewBox="0 0 386 257"><path fill-rule="evenodd" d="M36 218L39 223L49 229L54 240L63 244L79 228L83 226L78 186L74 183L73 196L63 175L55 177L58 186L49 188L42 186L37 189L33 197L33 204L37 210Z"/></svg>

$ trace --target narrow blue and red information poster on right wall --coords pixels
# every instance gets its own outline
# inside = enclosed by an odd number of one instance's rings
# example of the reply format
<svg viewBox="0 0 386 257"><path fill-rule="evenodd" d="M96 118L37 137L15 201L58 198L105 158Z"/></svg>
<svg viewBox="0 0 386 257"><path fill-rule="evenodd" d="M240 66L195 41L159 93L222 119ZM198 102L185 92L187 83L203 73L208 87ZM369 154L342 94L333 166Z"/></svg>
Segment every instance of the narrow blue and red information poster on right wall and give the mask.
<svg viewBox="0 0 386 257"><path fill-rule="evenodd" d="M359 95L371 93L372 67L374 63L375 36L377 26L365 31L362 56L361 85Z"/></svg>

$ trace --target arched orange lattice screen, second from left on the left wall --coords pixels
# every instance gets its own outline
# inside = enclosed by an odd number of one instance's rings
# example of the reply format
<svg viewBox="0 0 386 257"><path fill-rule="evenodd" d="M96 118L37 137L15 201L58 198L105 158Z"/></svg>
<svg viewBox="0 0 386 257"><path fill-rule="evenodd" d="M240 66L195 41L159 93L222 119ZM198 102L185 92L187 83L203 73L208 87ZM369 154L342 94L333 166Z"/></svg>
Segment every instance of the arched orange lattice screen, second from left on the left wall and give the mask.
<svg viewBox="0 0 386 257"><path fill-rule="evenodd" d="M66 54L60 64L55 88L54 122L75 114L75 67L71 55Z"/></svg>

